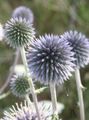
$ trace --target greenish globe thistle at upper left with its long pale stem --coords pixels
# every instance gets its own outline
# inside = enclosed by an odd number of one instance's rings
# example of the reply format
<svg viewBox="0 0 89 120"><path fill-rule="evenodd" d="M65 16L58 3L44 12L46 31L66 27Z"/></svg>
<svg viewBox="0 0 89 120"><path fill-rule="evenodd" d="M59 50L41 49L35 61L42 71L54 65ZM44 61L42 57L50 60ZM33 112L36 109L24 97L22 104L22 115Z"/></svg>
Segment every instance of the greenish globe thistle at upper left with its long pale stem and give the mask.
<svg viewBox="0 0 89 120"><path fill-rule="evenodd" d="M25 66L26 75L28 76L28 67L25 57L25 47L28 46L31 40L35 37L35 31L32 27L32 24L29 20L26 20L25 17L21 17L22 14L17 18L11 18L4 26L4 34L6 43L11 47L19 49L22 57L23 64ZM40 113L38 110L38 101L37 96L35 94L35 88L32 79L28 79L31 93L33 96L34 104L36 107L36 111L38 113L38 118L40 119ZM30 100L29 100L30 101Z"/></svg>

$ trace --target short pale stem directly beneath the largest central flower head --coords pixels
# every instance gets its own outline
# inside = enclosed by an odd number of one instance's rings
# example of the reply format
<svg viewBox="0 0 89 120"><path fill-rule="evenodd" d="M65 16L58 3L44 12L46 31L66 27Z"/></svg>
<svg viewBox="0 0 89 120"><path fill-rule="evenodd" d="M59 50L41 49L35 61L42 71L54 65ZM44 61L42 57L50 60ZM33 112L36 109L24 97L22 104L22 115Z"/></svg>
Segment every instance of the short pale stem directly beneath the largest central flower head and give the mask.
<svg viewBox="0 0 89 120"><path fill-rule="evenodd" d="M57 114L57 96L56 96L56 87L55 83L50 83L50 92L53 106L53 114Z"/></svg>

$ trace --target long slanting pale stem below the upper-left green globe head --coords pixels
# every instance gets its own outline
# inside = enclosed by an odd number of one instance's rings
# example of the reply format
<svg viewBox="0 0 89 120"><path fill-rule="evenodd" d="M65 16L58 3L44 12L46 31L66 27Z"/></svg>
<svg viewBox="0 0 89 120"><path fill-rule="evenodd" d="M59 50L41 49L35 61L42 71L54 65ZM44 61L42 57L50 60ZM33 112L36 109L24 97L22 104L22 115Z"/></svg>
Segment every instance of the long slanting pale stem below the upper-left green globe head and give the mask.
<svg viewBox="0 0 89 120"><path fill-rule="evenodd" d="M20 52L21 52L22 61L23 61L23 64L24 64L24 66L25 66L25 70L26 70L26 73L27 73L27 76L28 76L28 65L27 65L27 60L26 60L26 56L25 56L24 47L21 47L21 48L20 48ZM36 112L37 112L37 115L38 115L38 120L41 120L40 113L39 113L39 109L38 109L37 96L36 96L36 94L35 94L35 88L34 88L34 84L33 84L31 78L28 79L28 83L29 83L30 88L31 88L31 93L32 93L34 105L35 105L35 108L36 108Z"/></svg>

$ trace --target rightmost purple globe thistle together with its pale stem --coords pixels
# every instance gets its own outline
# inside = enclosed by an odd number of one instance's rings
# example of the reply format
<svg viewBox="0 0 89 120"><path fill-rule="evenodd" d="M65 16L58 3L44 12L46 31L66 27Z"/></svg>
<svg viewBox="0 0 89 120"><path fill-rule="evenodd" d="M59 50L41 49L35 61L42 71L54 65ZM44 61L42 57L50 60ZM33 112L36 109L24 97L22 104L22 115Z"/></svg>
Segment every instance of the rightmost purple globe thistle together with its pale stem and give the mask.
<svg viewBox="0 0 89 120"><path fill-rule="evenodd" d="M73 48L75 60L75 79L79 98L80 117L85 120L84 102L82 89L84 88L80 78L80 68L85 67L89 63L89 41L88 38L81 32L68 31L61 35L62 38L67 40Z"/></svg>

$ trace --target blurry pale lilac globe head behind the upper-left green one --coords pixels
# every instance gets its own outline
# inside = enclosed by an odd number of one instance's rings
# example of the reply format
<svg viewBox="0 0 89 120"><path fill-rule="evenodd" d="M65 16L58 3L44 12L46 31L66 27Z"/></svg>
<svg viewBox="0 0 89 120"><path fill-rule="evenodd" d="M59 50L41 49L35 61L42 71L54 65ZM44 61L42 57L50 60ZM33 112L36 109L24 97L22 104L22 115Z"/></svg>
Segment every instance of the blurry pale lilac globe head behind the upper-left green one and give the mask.
<svg viewBox="0 0 89 120"><path fill-rule="evenodd" d="M27 21L29 21L29 23L33 23L33 21L34 21L33 12L31 11L31 9L29 9L25 6L17 7L13 11L12 17L13 18L22 17L23 19L25 18Z"/></svg>

